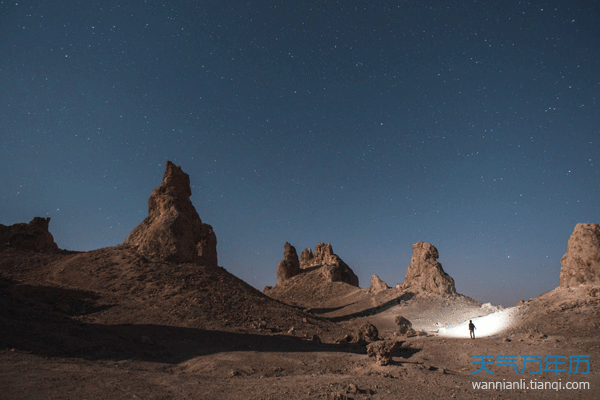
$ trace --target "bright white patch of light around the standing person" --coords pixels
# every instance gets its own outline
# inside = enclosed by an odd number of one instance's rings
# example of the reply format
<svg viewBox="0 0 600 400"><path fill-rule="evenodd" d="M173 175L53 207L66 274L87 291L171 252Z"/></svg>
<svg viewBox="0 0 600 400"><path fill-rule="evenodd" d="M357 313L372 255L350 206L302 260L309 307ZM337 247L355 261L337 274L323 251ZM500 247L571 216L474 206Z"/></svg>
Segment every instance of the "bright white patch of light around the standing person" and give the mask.
<svg viewBox="0 0 600 400"><path fill-rule="evenodd" d="M475 324L475 337L487 337L510 328L518 313L516 307L496 311L483 317L468 318L454 325L440 327L438 336L469 339L469 319Z"/></svg>

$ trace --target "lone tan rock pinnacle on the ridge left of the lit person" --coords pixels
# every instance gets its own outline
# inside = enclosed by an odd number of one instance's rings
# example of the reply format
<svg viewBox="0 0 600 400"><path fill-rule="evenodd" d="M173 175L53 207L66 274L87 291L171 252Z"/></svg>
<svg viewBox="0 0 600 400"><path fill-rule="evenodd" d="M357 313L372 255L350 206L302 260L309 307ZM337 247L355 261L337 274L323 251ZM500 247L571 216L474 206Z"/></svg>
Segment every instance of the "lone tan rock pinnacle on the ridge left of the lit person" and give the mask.
<svg viewBox="0 0 600 400"><path fill-rule="evenodd" d="M456 294L454 279L444 272L437 259L438 250L430 243L413 244L413 254L406 270L403 289L435 294Z"/></svg>

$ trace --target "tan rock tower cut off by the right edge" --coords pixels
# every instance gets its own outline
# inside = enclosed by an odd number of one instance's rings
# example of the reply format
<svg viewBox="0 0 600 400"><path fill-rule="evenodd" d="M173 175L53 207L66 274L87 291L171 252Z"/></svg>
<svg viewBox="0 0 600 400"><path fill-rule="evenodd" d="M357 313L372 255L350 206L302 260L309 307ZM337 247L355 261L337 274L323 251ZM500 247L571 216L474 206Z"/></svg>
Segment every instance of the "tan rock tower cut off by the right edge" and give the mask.
<svg viewBox="0 0 600 400"><path fill-rule="evenodd" d="M560 260L560 286L600 283L600 227L577 224Z"/></svg>

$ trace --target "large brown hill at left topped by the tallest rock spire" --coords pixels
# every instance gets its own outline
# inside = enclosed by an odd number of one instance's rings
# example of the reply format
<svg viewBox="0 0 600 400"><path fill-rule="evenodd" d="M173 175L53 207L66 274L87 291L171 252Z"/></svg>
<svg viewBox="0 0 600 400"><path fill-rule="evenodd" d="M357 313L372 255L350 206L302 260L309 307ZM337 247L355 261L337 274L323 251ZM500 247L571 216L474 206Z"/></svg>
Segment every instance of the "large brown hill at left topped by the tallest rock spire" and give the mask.
<svg viewBox="0 0 600 400"><path fill-rule="evenodd" d="M190 194L188 175L168 162L148 218L123 245L89 252L58 251L49 219L1 226L0 326L10 327L2 346L52 354L85 348L98 355L98 346L135 348L165 341L174 330L271 335L294 327L301 336L327 335L332 323L273 300L216 265L216 236Z"/></svg>

